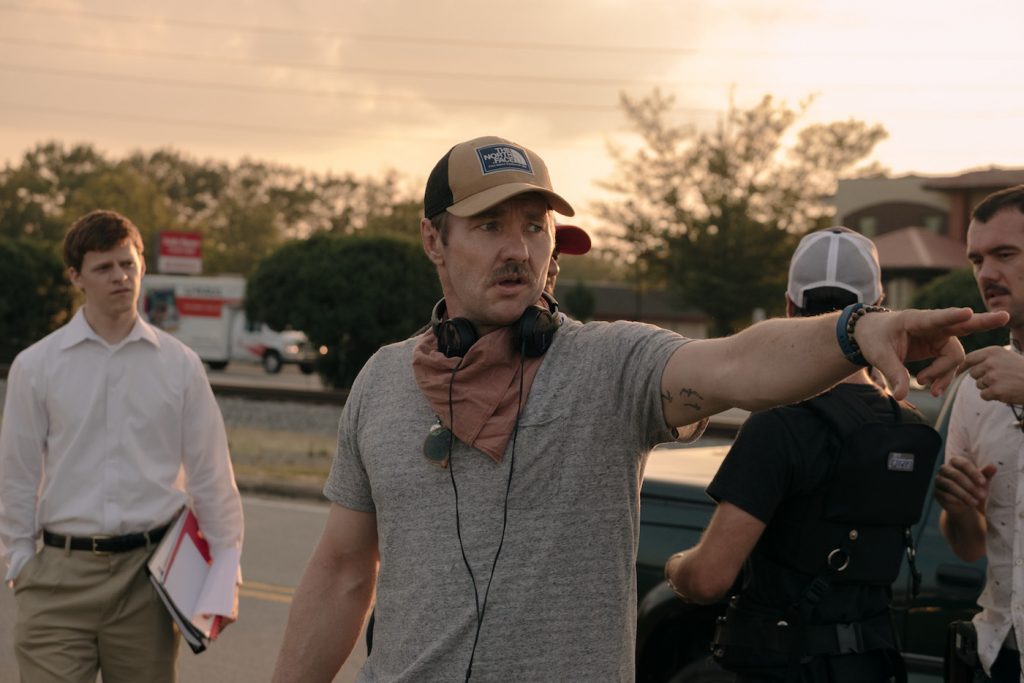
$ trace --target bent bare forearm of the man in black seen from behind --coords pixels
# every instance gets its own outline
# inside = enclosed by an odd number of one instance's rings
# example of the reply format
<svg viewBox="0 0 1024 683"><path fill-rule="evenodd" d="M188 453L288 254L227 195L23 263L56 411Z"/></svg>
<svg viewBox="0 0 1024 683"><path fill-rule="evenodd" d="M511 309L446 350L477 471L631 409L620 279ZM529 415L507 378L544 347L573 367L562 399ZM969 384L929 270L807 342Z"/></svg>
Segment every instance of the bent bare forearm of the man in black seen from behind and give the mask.
<svg viewBox="0 0 1024 683"><path fill-rule="evenodd" d="M723 598L736 582L765 523L723 501L700 537L700 542L669 558L665 575L684 600L710 604Z"/></svg>

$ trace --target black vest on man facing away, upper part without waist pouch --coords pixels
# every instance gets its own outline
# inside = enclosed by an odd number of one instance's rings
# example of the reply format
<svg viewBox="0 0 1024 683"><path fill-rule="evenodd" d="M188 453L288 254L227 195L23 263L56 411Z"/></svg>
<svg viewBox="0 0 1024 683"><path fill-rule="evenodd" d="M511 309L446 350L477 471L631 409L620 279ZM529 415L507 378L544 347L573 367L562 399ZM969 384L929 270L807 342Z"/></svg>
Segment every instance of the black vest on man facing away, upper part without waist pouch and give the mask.
<svg viewBox="0 0 1024 683"><path fill-rule="evenodd" d="M834 583L888 586L906 548L905 531L921 518L942 445L913 410L890 398L883 422L859 397L829 391L801 403L830 428L831 468L813 494L780 508L761 550L783 567ZM911 418L912 420L912 418Z"/></svg>

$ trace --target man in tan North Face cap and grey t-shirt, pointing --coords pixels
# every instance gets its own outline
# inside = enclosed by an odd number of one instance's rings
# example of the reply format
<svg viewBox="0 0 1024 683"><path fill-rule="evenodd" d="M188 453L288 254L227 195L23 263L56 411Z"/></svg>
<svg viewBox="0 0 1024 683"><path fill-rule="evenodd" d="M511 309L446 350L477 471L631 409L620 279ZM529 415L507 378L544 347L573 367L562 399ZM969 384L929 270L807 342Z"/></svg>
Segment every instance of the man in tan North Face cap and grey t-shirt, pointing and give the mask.
<svg viewBox="0 0 1024 683"><path fill-rule="evenodd" d="M563 321L542 296L555 212L573 210L544 161L507 139L456 144L431 171L420 232L444 298L352 385L275 681L330 680L374 599L359 681L631 681L654 444L733 404L822 391L855 362L905 393L901 348L939 356L922 379L943 388L952 335L1005 317L850 308L839 334L833 315L709 341Z"/></svg>

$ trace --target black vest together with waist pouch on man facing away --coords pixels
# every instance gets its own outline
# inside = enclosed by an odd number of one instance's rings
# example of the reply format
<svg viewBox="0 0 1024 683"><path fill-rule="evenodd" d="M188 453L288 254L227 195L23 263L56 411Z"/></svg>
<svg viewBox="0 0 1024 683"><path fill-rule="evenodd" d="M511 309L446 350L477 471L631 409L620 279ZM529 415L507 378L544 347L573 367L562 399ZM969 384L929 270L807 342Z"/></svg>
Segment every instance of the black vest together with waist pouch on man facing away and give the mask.
<svg viewBox="0 0 1024 683"><path fill-rule="evenodd" d="M890 403L888 419L853 391L829 391L798 404L828 426L828 447L820 454L830 461L828 473L812 492L776 510L755 551L759 577L750 579L797 583L801 597L777 608L744 603L742 594L734 598L714 646L727 669L787 668L788 680L805 655L878 651L898 657L888 609L859 613L856 597L877 590L888 603L942 440L912 407ZM847 614L846 623L812 618L826 596L829 611Z"/></svg>

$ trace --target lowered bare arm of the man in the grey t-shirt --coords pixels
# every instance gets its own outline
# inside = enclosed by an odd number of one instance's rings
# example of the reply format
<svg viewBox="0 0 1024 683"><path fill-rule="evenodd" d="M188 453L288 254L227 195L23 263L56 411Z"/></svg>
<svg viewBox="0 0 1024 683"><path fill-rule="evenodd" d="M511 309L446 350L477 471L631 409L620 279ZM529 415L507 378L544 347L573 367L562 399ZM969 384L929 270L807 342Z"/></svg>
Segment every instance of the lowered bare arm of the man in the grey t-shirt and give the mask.
<svg viewBox="0 0 1024 683"><path fill-rule="evenodd" d="M334 679L370 609L377 559L377 515L331 506L295 591L274 683Z"/></svg>

